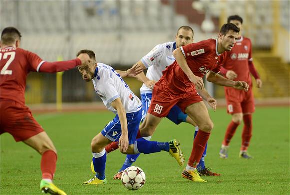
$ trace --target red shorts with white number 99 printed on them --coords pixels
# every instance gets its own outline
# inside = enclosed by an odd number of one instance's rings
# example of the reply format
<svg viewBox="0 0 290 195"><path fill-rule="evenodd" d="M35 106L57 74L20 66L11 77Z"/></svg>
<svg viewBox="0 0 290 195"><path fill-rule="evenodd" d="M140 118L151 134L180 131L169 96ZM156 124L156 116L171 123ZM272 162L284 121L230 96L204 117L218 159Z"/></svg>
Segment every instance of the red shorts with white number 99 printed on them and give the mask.
<svg viewBox="0 0 290 195"><path fill-rule="evenodd" d="M185 113L185 109L189 105L200 101L202 101L202 98L196 89L186 93L180 92L169 88L163 81L154 86L148 113L160 118L166 117L174 105L178 105Z"/></svg>

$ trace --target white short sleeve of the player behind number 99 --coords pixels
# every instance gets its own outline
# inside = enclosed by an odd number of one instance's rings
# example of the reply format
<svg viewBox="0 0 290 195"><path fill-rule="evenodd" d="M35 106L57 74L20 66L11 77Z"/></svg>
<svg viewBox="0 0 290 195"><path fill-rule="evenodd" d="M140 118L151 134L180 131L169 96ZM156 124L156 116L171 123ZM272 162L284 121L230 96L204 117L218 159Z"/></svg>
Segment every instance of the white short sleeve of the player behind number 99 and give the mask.
<svg viewBox="0 0 290 195"><path fill-rule="evenodd" d="M164 54L164 47L162 44L156 45L147 55L145 55L141 62L146 68L156 65Z"/></svg>

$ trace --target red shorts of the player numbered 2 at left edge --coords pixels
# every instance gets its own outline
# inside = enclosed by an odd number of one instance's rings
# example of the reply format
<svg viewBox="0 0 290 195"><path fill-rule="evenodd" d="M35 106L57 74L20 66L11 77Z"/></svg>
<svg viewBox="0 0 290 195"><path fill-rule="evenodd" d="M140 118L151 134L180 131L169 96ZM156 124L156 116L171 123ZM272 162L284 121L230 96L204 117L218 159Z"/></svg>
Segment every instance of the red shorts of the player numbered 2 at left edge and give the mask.
<svg viewBox="0 0 290 195"><path fill-rule="evenodd" d="M1 99L0 134L11 134L14 139L24 141L40 132L43 128L33 118L28 107L15 101Z"/></svg>

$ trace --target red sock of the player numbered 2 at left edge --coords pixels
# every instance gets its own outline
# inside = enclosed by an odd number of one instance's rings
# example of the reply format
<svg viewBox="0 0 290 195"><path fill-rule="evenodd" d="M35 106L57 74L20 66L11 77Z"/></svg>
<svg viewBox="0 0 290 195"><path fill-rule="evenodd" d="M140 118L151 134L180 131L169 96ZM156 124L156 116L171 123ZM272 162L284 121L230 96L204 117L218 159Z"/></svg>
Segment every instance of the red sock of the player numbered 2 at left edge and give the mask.
<svg viewBox="0 0 290 195"><path fill-rule="evenodd" d="M56 170L57 154L52 150L47 150L42 154L41 172L42 179L53 179Z"/></svg>

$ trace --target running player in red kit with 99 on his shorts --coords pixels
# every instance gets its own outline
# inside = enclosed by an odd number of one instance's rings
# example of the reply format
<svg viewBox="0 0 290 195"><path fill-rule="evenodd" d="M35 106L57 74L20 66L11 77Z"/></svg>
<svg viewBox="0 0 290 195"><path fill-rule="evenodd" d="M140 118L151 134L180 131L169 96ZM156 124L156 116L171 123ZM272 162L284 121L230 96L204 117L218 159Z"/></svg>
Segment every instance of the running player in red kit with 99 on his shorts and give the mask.
<svg viewBox="0 0 290 195"><path fill-rule="evenodd" d="M141 135L151 136L174 105L178 105L196 122L199 131L193 142L188 164L182 172L184 178L194 182L206 182L200 178L196 167L213 129L207 108L195 87L204 90L202 77L207 74L210 82L247 91L246 82L229 80L218 74L220 63L226 58L225 51L232 49L238 32L239 28L234 24L224 24L218 39L208 39L175 49L173 56L176 61L163 71L163 76L155 84L146 119L140 125Z"/></svg>

